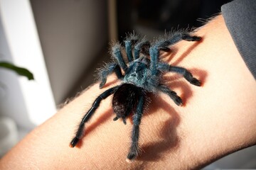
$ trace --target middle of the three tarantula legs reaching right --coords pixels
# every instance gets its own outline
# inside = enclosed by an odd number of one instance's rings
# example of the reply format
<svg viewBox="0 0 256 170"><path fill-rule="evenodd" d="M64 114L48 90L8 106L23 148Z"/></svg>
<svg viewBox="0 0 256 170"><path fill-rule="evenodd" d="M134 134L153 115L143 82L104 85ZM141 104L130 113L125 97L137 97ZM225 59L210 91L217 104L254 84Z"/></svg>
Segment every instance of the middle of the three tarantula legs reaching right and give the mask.
<svg viewBox="0 0 256 170"><path fill-rule="evenodd" d="M176 72L178 74L182 74L183 77L191 84L195 86L201 86L201 81L194 78L191 72L189 72L187 69L184 69L183 67L175 67L169 64L159 63L157 69L162 72Z"/></svg>

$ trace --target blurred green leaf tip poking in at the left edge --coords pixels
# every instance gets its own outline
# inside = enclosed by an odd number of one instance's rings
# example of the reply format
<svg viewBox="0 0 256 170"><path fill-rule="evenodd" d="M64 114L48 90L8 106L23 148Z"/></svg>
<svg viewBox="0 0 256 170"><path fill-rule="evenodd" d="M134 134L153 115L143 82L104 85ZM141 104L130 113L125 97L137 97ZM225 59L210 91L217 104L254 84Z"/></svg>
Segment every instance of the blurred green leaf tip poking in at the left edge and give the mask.
<svg viewBox="0 0 256 170"><path fill-rule="evenodd" d="M11 69L17 74L27 77L28 80L33 80L33 74L28 71L28 69L22 68L22 67L16 67L14 64L11 64L9 62L0 62L0 67L4 67L6 69Z"/></svg>

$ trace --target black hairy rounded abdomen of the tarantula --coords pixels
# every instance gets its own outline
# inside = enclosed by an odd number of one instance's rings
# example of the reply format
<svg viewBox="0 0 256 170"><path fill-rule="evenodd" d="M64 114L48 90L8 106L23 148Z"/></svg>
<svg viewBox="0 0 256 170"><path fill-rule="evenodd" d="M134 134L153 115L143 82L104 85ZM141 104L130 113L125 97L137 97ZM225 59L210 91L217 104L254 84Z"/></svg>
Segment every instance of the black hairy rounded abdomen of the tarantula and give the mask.
<svg viewBox="0 0 256 170"><path fill-rule="evenodd" d="M122 118L124 124L126 124L127 116L134 111L142 93L142 88L134 84L122 84L119 86L112 99L112 107L117 115L114 120Z"/></svg>

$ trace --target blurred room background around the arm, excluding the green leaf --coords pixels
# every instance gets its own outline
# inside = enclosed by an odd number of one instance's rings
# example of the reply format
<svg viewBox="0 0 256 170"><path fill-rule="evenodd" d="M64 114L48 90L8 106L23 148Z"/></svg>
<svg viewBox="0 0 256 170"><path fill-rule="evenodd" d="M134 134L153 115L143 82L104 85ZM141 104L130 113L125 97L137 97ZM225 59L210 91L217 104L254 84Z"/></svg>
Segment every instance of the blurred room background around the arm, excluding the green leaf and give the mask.
<svg viewBox="0 0 256 170"><path fill-rule="evenodd" d="M202 26L227 0L0 0L0 61L33 72L35 81L0 68L0 155L68 98L95 81L109 42L133 30L153 39ZM250 147L205 169L256 168Z"/></svg>

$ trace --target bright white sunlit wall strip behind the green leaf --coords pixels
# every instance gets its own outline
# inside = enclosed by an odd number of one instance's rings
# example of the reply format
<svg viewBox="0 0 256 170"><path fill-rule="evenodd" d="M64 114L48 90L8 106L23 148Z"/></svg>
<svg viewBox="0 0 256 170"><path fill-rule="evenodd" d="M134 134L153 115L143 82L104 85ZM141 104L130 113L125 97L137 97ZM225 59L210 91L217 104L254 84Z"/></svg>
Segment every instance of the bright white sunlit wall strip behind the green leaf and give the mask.
<svg viewBox="0 0 256 170"><path fill-rule="evenodd" d="M55 102L28 0L0 0L0 60L33 72L35 81L1 69L0 114L31 129L55 113Z"/></svg>

